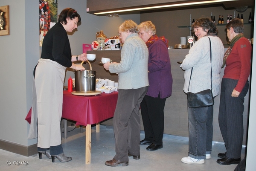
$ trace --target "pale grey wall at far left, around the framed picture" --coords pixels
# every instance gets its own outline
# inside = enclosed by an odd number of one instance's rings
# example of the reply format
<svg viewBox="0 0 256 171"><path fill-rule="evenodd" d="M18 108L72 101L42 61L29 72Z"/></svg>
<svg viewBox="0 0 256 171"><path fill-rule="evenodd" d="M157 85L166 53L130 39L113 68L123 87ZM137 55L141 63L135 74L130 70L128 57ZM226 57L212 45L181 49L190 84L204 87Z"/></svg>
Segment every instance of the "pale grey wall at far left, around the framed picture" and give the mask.
<svg viewBox="0 0 256 171"><path fill-rule="evenodd" d="M0 36L0 139L20 145L27 140L24 120L31 106L32 68L39 58L38 1L1 0L9 5L10 35ZM27 29L27 30L26 30Z"/></svg>

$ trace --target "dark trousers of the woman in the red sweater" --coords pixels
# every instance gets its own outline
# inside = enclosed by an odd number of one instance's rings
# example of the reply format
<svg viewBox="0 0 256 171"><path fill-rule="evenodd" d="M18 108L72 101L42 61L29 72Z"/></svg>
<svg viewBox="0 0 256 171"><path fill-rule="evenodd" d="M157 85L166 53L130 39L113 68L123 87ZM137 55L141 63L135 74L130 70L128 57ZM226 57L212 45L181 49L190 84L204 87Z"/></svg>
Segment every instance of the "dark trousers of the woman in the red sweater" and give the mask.
<svg viewBox="0 0 256 171"><path fill-rule="evenodd" d="M223 78L221 82L221 99L218 121L221 135L227 149L227 157L238 159L241 157L244 126L244 96L249 89L249 81L244 85L238 97L231 94L237 85L238 80Z"/></svg>

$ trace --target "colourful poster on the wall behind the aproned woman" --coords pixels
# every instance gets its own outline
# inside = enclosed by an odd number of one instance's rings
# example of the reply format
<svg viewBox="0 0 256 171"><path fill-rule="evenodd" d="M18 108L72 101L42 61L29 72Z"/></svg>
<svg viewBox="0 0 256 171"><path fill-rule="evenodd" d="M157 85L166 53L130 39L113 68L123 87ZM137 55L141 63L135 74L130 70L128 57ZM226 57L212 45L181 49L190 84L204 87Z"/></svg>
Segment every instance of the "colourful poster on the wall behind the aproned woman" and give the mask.
<svg viewBox="0 0 256 171"><path fill-rule="evenodd" d="M39 0L39 36L42 46L44 36L58 22L58 0Z"/></svg>

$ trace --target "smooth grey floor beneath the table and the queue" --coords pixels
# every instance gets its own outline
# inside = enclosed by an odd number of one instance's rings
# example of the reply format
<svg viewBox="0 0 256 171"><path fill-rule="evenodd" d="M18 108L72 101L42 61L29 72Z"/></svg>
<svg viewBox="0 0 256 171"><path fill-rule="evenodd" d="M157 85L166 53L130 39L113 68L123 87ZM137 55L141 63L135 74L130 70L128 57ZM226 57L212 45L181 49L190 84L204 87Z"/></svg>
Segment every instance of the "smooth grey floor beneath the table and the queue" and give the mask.
<svg viewBox="0 0 256 171"><path fill-rule="evenodd" d="M68 127L72 130L73 127ZM212 158L207 159L204 164L189 165L180 161L188 153L188 142L173 139L174 136L164 135L163 148L157 151L147 151L147 145L140 146L140 159L129 158L129 165L122 167L109 167L105 165L106 160L111 160L115 155L115 139L113 127L101 125L100 133L96 133L96 128L92 127L91 135L91 164L85 164L85 129L80 133L76 128L67 133L67 139L62 140L64 154L73 159L70 162L61 163L42 155L39 159L38 154L30 157L24 157L9 151L0 149L0 167L2 171L233 171L236 165L219 165L216 160L217 154L225 152L223 143L215 143L212 146ZM141 139L144 138L143 132ZM244 148L242 150L244 157ZM7 165L10 161L11 165ZM21 165L17 165L20 161ZM24 163L28 162L27 165ZM15 165L16 164L16 165Z"/></svg>

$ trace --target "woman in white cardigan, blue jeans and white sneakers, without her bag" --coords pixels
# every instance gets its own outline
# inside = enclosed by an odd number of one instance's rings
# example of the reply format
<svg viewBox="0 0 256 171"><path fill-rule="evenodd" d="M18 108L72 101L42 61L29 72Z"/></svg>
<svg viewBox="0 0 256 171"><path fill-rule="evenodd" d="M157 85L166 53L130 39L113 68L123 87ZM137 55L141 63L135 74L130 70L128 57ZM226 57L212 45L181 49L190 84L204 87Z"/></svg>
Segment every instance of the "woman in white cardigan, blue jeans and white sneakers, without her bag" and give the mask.
<svg viewBox="0 0 256 171"><path fill-rule="evenodd" d="M212 48L212 94L218 95L221 82L221 65L224 56L224 46L217 37L218 29L209 18L200 18L192 25L198 41L191 47L189 54L183 60L185 93L198 93L210 89L211 86L211 62L210 43ZM191 68L193 72L189 85ZM189 154L183 157L182 162L187 164L203 164L204 159L211 157L212 151L212 117L213 105L208 107L188 107L189 119Z"/></svg>

